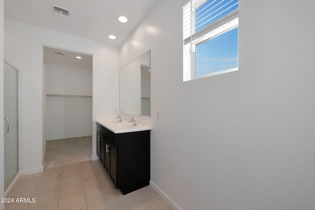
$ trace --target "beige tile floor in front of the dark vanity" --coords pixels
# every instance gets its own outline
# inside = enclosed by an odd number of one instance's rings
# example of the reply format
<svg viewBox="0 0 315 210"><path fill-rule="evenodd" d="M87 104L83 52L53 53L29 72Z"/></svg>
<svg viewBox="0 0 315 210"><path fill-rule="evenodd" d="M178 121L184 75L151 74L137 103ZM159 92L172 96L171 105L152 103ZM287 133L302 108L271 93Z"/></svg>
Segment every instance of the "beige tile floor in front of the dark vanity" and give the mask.
<svg viewBox="0 0 315 210"><path fill-rule="evenodd" d="M35 203L7 203L5 210L172 210L150 186L123 195L99 160L21 176L7 198Z"/></svg>

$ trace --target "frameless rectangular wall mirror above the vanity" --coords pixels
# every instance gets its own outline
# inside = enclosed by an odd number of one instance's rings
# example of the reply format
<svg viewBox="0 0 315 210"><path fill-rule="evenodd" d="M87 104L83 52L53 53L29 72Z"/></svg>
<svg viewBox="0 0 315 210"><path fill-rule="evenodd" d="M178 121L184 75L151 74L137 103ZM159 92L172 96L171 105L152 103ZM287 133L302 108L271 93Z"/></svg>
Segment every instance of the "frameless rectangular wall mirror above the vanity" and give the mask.
<svg viewBox="0 0 315 210"><path fill-rule="evenodd" d="M120 113L151 115L150 50L120 71Z"/></svg>

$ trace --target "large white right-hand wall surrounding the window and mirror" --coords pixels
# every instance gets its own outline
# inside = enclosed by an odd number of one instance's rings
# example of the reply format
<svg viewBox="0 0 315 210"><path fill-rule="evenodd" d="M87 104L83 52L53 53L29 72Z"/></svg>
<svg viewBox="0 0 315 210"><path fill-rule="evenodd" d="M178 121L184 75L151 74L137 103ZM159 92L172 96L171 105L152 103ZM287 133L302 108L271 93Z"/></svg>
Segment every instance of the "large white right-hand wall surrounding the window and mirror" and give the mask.
<svg viewBox="0 0 315 210"><path fill-rule="evenodd" d="M315 1L240 0L239 71L185 83L184 3L121 47L151 49L152 186L182 210L314 210Z"/></svg>

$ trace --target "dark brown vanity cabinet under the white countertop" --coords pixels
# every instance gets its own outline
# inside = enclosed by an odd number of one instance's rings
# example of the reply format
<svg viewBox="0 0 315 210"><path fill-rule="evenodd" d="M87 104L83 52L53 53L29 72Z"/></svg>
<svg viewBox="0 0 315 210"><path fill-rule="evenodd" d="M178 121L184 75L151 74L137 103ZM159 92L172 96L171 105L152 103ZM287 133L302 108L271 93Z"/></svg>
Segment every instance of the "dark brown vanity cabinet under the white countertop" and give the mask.
<svg viewBox="0 0 315 210"><path fill-rule="evenodd" d="M96 153L116 188L125 195L149 185L150 130L115 134L97 123L96 135Z"/></svg>

